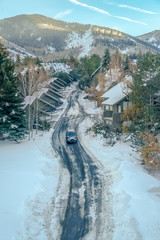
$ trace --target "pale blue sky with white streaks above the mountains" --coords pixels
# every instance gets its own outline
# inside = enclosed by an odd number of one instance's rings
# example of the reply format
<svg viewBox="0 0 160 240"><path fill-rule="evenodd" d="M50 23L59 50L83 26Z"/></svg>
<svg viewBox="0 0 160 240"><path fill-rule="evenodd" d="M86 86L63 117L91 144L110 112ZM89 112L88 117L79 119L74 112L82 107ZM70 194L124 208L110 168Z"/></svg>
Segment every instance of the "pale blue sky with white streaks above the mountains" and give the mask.
<svg viewBox="0 0 160 240"><path fill-rule="evenodd" d="M0 1L0 19L34 13L114 28L133 36L160 30L160 0Z"/></svg>

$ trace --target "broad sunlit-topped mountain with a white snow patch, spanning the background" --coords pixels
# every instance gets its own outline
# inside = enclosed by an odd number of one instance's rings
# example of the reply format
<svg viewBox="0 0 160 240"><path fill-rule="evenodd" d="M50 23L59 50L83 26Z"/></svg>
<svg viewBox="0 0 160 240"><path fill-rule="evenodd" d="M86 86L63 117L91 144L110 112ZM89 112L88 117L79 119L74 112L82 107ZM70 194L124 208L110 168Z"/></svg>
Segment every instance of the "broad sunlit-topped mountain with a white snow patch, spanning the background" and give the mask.
<svg viewBox="0 0 160 240"><path fill-rule="evenodd" d="M46 60L96 53L106 47L126 54L153 51L157 46L123 32L90 24L69 23L42 15L18 15L0 20L0 36Z"/></svg>

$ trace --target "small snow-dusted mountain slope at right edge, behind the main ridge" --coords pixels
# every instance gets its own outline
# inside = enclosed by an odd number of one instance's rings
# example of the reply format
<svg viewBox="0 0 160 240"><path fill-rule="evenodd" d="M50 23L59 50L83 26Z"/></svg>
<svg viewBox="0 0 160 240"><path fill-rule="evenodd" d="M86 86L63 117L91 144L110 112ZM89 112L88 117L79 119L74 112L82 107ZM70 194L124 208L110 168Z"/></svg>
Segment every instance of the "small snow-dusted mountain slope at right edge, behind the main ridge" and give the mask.
<svg viewBox="0 0 160 240"><path fill-rule="evenodd" d="M160 30L138 36L138 38L160 49Z"/></svg>

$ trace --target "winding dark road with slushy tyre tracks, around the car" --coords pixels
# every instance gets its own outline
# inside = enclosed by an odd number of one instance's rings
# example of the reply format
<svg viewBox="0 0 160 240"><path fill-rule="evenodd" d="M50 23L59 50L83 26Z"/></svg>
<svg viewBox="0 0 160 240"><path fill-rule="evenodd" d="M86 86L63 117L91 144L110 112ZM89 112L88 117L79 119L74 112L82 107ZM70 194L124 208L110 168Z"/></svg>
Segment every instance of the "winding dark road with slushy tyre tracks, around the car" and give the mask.
<svg viewBox="0 0 160 240"><path fill-rule="evenodd" d="M66 144L65 140L67 129L72 127L77 131L78 124L84 119L83 109L77 99L78 93L75 91L52 137L53 146L61 157L63 168L68 169L70 175L65 201L64 196L61 196L61 240L83 239L93 225L96 226L94 237L98 239L101 228L102 176L79 141L76 144Z"/></svg>

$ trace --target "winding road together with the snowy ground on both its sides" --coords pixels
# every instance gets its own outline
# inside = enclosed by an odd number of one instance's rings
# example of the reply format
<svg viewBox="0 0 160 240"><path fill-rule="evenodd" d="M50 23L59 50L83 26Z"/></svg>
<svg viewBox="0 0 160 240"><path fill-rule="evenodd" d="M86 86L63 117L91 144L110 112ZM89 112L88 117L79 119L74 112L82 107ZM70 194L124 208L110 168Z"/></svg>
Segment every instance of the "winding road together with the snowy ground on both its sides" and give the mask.
<svg viewBox="0 0 160 240"><path fill-rule="evenodd" d="M102 111L73 89L54 134L0 143L1 239L160 240L159 172L148 174L123 139L109 146L87 131ZM71 126L78 143L67 145Z"/></svg>

